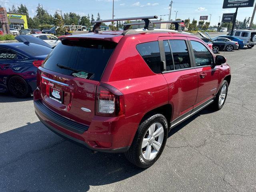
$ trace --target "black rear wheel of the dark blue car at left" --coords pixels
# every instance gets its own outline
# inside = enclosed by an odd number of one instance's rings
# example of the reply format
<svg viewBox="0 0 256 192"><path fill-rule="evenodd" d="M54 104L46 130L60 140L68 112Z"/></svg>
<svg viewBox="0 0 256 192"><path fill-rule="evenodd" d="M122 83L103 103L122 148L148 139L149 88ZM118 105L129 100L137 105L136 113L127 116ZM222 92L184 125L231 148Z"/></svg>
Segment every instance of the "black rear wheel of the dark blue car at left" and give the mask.
<svg viewBox="0 0 256 192"><path fill-rule="evenodd" d="M12 76L8 80L8 90L17 98L26 98L29 93L27 82L19 76Z"/></svg>

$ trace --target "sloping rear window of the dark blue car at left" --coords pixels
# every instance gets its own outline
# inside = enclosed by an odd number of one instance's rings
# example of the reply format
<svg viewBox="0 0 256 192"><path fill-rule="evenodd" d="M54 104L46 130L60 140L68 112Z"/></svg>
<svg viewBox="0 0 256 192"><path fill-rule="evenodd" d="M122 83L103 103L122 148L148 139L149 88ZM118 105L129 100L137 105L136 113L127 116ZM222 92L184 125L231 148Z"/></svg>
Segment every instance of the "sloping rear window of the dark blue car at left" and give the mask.
<svg viewBox="0 0 256 192"><path fill-rule="evenodd" d="M17 47L31 56L48 55L52 49L38 44L30 44Z"/></svg>

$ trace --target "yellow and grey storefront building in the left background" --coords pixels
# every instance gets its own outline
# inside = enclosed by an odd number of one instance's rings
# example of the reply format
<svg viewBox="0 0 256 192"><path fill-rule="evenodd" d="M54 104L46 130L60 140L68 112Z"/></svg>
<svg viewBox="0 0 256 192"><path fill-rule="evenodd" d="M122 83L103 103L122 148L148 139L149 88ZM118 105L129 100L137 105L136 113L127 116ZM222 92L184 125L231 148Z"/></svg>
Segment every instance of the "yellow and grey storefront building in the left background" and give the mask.
<svg viewBox="0 0 256 192"><path fill-rule="evenodd" d="M28 29L28 21L26 14L7 12L10 28Z"/></svg>

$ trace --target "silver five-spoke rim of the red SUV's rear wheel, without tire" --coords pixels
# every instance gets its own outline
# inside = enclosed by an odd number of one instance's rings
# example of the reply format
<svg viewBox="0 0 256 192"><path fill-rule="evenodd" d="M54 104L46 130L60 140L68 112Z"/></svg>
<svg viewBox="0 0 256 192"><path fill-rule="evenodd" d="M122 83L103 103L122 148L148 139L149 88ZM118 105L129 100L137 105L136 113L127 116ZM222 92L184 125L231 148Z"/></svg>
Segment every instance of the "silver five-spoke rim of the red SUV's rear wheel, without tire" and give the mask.
<svg viewBox="0 0 256 192"><path fill-rule="evenodd" d="M158 152L160 151L160 148L162 147L162 143L164 140L164 128L162 124L156 122L152 124L142 141L142 156L146 160L151 160L154 158Z"/></svg>

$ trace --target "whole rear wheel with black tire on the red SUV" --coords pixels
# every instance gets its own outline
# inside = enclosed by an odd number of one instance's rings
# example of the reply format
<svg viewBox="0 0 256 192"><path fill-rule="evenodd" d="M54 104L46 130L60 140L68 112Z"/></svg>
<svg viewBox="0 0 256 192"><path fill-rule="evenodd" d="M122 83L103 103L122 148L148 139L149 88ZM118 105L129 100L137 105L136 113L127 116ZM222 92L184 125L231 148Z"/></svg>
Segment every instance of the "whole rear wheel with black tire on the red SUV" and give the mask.
<svg viewBox="0 0 256 192"><path fill-rule="evenodd" d="M160 135L154 137L154 134ZM140 168L152 166L162 154L167 136L168 123L162 114L147 118L138 127L132 145L125 153L126 158Z"/></svg>

